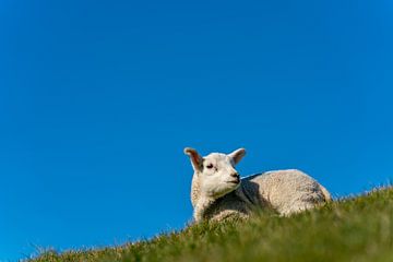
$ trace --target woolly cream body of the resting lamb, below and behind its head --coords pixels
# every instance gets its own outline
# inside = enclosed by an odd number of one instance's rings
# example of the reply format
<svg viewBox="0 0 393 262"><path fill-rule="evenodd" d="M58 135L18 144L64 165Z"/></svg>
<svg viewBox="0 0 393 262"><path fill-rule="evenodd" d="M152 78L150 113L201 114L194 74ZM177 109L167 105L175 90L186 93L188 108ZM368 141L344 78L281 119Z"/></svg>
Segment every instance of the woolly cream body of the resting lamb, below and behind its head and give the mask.
<svg viewBox="0 0 393 262"><path fill-rule="evenodd" d="M252 210L261 207L290 215L330 200L329 192L302 171L267 171L242 178L238 189L219 199L201 201L194 206L194 217L195 221L248 217Z"/></svg>

